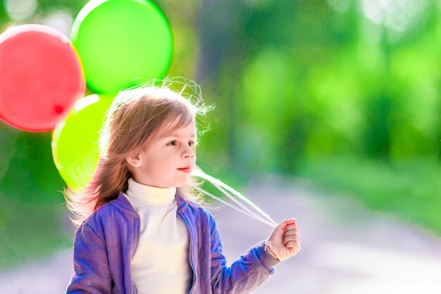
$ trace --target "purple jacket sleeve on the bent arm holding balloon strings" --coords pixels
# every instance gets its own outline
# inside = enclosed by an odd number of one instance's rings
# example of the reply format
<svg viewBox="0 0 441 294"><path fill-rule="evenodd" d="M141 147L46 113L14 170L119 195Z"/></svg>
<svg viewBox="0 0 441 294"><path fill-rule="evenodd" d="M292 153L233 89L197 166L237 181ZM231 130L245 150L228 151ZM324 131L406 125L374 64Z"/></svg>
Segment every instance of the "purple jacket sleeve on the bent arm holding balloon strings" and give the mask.
<svg viewBox="0 0 441 294"><path fill-rule="evenodd" d="M250 293L275 273L280 263L267 250L263 241L249 248L239 260L226 266L221 237L211 217L211 290L213 293Z"/></svg>

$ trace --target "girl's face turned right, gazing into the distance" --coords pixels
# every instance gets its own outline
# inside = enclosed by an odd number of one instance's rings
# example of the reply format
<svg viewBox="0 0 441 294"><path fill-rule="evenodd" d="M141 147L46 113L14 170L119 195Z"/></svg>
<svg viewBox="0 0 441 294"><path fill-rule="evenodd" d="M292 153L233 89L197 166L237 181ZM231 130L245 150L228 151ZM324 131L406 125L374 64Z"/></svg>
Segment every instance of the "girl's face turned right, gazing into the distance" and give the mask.
<svg viewBox="0 0 441 294"><path fill-rule="evenodd" d="M181 129L160 131L139 153L139 166L132 169L135 181L159 188L185 186L196 162L195 145L193 121Z"/></svg>

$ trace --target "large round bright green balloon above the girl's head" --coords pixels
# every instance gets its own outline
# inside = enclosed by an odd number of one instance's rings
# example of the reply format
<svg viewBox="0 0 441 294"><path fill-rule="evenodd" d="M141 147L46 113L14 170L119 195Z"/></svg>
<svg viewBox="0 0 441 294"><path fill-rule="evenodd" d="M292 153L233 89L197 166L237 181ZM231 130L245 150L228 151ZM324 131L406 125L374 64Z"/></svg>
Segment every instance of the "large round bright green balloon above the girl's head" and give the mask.
<svg viewBox="0 0 441 294"><path fill-rule="evenodd" d="M161 9L148 0L89 1L70 31L90 89L116 94L170 68L173 35Z"/></svg>

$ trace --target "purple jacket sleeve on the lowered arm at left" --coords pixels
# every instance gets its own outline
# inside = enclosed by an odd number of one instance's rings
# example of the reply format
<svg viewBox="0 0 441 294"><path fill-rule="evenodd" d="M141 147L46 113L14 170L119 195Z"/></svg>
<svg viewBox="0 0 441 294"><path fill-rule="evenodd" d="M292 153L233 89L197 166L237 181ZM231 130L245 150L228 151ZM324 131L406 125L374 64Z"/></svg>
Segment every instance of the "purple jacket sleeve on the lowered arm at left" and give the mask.
<svg viewBox="0 0 441 294"><path fill-rule="evenodd" d="M73 242L74 276L66 293L111 293L106 245L87 223L82 223Z"/></svg>

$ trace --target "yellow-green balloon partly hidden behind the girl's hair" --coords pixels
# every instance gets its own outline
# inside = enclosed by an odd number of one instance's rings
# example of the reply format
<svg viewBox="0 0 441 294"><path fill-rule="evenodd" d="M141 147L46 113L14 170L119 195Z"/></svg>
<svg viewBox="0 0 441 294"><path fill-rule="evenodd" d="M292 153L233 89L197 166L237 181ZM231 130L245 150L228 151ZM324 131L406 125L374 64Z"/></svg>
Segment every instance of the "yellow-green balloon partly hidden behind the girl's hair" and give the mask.
<svg viewBox="0 0 441 294"><path fill-rule="evenodd" d="M97 94L75 103L66 120L52 133L52 157L58 172L72 188L92 180L99 158L99 131L113 98Z"/></svg>

